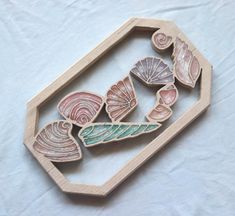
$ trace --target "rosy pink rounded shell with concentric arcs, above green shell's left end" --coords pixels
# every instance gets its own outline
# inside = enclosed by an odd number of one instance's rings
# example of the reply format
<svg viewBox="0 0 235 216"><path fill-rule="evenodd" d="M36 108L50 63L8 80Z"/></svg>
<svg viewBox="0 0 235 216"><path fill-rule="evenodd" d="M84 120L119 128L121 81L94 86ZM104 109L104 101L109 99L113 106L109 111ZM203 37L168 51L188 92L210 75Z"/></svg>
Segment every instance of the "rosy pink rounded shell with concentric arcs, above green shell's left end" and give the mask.
<svg viewBox="0 0 235 216"><path fill-rule="evenodd" d="M65 96L57 108L67 121L83 127L95 120L103 104L101 96L90 92L74 92Z"/></svg>

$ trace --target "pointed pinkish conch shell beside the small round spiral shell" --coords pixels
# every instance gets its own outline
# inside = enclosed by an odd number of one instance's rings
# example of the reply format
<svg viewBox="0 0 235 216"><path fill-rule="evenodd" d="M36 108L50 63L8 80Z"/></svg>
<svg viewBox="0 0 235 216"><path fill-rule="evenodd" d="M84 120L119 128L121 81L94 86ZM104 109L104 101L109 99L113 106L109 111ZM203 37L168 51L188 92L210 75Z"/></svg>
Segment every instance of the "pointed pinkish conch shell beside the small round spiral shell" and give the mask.
<svg viewBox="0 0 235 216"><path fill-rule="evenodd" d="M198 59L189 50L188 45L180 38L176 38L173 50L174 73L183 84L194 88L201 72Z"/></svg>

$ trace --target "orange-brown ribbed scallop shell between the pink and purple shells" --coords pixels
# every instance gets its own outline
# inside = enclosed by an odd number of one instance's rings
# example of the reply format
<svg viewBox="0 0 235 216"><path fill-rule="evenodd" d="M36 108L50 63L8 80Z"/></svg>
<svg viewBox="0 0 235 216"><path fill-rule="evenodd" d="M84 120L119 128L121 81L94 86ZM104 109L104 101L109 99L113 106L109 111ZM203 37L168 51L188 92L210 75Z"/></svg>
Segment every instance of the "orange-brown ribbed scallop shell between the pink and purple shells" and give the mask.
<svg viewBox="0 0 235 216"><path fill-rule="evenodd" d="M106 95L106 111L113 122L125 118L137 106L133 83L129 76L112 85Z"/></svg>

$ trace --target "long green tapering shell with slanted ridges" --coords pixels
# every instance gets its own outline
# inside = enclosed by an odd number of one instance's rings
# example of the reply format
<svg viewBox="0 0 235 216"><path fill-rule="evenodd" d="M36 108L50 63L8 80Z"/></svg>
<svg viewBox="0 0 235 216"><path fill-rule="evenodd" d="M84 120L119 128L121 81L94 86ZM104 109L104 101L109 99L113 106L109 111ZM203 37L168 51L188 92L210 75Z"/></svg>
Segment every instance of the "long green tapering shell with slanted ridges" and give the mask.
<svg viewBox="0 0 235 216"><path fill-rule="evenodd" d="M159 123L93 123L81 129L78 136L86 147L136 137L157 130Z"/></svg>

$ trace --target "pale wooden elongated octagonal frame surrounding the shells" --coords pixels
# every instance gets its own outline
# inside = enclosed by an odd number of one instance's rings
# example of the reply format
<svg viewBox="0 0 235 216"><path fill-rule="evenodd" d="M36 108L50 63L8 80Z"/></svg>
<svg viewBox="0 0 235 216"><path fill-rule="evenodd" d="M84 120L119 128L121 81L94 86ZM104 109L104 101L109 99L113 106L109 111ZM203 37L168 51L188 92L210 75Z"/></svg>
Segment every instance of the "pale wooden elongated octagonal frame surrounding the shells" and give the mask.
<svg viewBox="0 0 235 216"><path fill-rule="evenodd" d="M130 160L121 170L119 170L103 185L97 186L71 183L50 160L33 149L34 136L37 132L39 119L39 108L49 101L61 89L67 86L72 80L85 72L88 67L93 65L98 59L114 47L114 45L123 40L134 29L153 31L160 29L164 30L164 32L168 31L170 35L180 36L180 38L183 38L184 41L187 42L193 54L198 58L200 65L202 66L200 98L188 111L186 111L168 128L166 128L158 137L150 142L138 155ZM211 72L212 66L210 63L192 45L192 43L173 22L159 21L155 19L131 18L100 45L94 48L84 58L79 60L52 84L28 102L24 144L62 191L75 194L106 196L141 165L147 162L149 158L164 147L204 110L206 110L206 108L210 105L211 99Z"/></svg>

